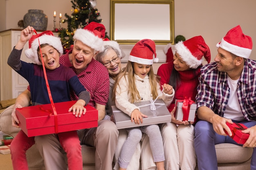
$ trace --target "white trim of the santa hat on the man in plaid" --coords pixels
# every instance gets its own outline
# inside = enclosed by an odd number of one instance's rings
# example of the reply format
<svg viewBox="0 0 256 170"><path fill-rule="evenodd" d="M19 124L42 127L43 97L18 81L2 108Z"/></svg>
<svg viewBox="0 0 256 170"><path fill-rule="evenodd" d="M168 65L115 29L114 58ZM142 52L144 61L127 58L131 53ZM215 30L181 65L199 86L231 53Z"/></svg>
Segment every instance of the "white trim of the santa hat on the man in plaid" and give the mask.
<svg viewBox="0 0 256 170"><path fill-rule="evenodd" d="M243 58L249 58L251 55L252 50L247 49L241 46L236 46L234 44L230 44L229 42L225 41L224 38L222 38L221 42L216 44L217 48L222 48L226 51L229 51L230 53L237 55L239 57Z"/></svg>

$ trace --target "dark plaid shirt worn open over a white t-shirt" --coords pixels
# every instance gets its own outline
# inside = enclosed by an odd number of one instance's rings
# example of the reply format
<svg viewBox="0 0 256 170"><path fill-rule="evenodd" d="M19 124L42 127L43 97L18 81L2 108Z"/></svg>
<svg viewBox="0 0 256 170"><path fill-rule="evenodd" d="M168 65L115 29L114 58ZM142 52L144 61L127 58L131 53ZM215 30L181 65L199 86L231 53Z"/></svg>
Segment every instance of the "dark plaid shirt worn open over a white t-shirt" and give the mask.
<svg viewBox="0 0 256 170"><path fill-rule="evenodd" d="M247 121L256 120L256 61L247 59L237 88L240 108ZM229 99L227 73L217 70L213 62L201 68L198 95L198 108L207 106L215 114L223 117Z"/></svg>

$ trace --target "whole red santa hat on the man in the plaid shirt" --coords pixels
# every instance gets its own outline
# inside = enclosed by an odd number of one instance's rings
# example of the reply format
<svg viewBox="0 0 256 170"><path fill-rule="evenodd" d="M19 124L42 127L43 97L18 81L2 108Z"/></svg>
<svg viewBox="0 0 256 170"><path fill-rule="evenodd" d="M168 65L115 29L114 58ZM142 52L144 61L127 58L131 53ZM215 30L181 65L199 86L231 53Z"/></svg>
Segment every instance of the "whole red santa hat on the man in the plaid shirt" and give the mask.
<svg viewBox="0 0 256 170"><path fill-rule="evenodd" d="M216 44L230 53L243 58L249 58L252 52L252 38L243 34L240 25L227 32L224 38Z"/></svg>

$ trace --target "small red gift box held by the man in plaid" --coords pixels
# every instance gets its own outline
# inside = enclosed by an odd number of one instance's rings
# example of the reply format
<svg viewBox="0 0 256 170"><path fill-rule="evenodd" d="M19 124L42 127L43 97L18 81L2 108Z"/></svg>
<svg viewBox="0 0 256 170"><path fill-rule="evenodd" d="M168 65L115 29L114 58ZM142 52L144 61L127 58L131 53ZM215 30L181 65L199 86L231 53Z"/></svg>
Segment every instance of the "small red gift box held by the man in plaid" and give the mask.
<svg viewBox="0 0 256 170"><path fill-rule="evenodd" d="M230 124L228 122L226 122L227 126L229 126L231 132L232 132L232 136L231 138L234 139L234 141L236 141L236 143L238 144L245 144L245 142L247 141L249 134L248 133L242 133L242 130L247 129L247 127L244 124L239 124L239 123L233 123ZM229 135L227 133L226 130L224 130L226 132L227 135Z"/></svg>

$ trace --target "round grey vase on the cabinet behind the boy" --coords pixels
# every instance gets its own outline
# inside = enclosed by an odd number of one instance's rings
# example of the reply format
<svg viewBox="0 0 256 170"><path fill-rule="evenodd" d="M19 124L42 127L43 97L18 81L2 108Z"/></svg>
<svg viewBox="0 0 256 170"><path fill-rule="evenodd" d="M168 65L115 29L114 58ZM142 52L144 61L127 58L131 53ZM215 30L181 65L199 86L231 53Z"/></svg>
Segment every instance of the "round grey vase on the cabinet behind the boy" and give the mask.
<svg viewBox="0 0 256 170"><path fill-rule="evenodd" d="M34 29L45 31L47 29L48 18L40 9L29 9L23 18L24 28L33 26Z"/></svg>

